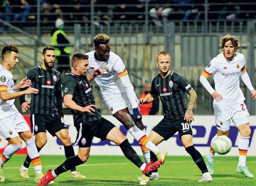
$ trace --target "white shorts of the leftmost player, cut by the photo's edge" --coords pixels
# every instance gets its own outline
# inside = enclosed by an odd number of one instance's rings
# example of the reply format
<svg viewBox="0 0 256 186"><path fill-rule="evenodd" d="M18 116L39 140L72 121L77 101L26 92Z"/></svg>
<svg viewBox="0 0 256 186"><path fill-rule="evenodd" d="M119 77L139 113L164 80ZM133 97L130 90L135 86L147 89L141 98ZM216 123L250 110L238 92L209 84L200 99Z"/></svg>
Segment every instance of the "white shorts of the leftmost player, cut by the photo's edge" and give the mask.
<svg viewBox="0 0 256 186"><path fill-rule="evenodd" d="M19 112L0 120L0 135L5 140L15 138L19 136L18 132L25 131L30 131L30 128Z"/></svg>

